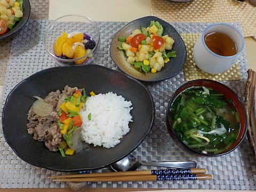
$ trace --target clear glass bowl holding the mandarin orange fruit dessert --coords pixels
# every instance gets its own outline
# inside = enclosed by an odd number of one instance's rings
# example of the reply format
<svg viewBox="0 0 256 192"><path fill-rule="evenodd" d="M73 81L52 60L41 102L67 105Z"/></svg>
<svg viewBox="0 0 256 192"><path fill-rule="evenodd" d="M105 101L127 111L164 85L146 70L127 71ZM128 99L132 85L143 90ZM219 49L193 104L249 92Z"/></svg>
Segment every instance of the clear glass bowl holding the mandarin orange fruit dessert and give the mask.
<svg viewBox="0 0 256 192"><path fill-rule="evenodd" d="M83 33L85 41L91 41L95 46L90 52L86 50L86 54L76 59L67 58L64 55L58 57L55 55L53 46L57 38L62 35L62 32L65 32L69 36L78 32ZM63 15L47 26L43 36L43 44L46 52L60 65L84 65L90 63L98 51L100 46L100 31L95 22L90 18L77 14Z"/></svg>

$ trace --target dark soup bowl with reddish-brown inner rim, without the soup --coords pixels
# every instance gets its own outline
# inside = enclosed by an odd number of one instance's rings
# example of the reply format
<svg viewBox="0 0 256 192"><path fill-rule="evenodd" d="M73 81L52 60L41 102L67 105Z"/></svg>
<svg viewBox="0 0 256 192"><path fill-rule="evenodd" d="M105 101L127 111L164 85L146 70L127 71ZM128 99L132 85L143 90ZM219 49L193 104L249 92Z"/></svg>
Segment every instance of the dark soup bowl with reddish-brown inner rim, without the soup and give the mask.
<svg viewBox="0 0 256 192"><path fill-rule="evenodd" d="M218 91L219 93L222 93L224 95L225 99L231 100L231 105L238 112L239 132L237 134L236 140L226 150L221 151L221 153L217 153L217 154L205 153L205 151L203 151L203 150L198 151L194 148L188 147L187 143L183 142L180 139L177 132L175 132L175 130L173 128L173 121L172 121L173 114L170 109L171 109L171 106L173 105L174 100L177 99L178 95L181 92L183 92L189 88L196 87L196 86L210 87L213 90ZM221 155L226 155L226 154L230 153L231 151L235 150L242 143L243 139L245 138L246 131L247 131L247 124L248 124L248 120L247 120L246 110L245 110L243 102L238 97L238 95L233 90L231 90L228 86L226 86L220 82L210 80L210 79L196 79L194 81L190 81L190 82L187 82L187 83L181 85L178 88L178 90L175 91L174 94L172 95L172 97L169 101L168 108L166 110L166 127L167 127L167 130L169 131L169 134L173 138L173 140L178 141L177 143L179 143L183 149L189 151L190 153L199 154L199 155L203 155L203 156L221 156ZM190 127L190 126L188 126L188 127L190 130L193 129L193 127Z"/></svg>

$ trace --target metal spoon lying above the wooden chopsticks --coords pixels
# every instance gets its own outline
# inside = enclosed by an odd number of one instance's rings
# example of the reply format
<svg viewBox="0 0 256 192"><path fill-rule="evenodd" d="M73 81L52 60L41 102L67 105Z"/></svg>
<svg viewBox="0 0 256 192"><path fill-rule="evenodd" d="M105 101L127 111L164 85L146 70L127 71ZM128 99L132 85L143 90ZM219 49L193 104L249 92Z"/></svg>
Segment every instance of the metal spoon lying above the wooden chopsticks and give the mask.
<svg viewBox="0 0 256 192"><path fill-rule="evenodd" d="M177 161L177 162L151 162L151 163L142 163L133 155L128 155L110 165L111 169L114 171L135 171L139 166L163 166L163 167L173 167L173 168L196 168L197 164L194 161Z"/></svg>

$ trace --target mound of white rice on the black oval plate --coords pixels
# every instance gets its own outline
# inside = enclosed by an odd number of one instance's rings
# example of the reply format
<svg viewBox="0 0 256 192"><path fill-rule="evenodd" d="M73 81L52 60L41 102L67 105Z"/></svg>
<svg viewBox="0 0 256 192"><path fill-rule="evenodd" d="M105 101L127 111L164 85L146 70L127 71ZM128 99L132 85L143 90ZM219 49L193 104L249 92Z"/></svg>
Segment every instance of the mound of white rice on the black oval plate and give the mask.
<svg viewBox="0 0 256 192"><path fill-rule="evenodd" d="M82 138L85 142L111 148L130 131L128 124L132 122L132 103L121 95L113 92L100 93L87 99L84 106L81 116Z"/></svg>

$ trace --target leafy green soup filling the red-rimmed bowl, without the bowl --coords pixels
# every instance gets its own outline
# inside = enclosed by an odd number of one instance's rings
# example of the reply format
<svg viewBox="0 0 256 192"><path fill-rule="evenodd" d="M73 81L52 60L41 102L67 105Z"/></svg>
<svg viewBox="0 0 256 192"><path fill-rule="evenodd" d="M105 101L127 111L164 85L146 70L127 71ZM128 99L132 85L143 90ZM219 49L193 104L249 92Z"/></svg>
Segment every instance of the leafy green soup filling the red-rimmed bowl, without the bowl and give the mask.
<svg viewBox="0 0 256 192"><path fill-rule="evenodd" d="M238 112L230 99L211 88L196 86L181 92L170 112L175 133L196 151L220 154L237 138Z"/></svg>

